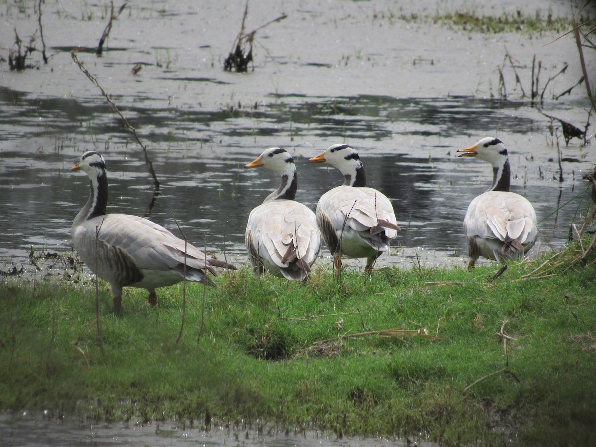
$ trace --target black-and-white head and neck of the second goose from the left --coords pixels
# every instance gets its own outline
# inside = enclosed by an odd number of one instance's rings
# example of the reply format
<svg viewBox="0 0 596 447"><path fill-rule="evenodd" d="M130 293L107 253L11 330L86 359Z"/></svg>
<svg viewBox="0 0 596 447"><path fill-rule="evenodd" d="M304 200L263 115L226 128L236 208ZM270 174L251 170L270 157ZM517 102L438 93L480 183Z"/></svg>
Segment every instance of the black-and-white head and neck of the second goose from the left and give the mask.
<svg viewBox="0 0 596 447"><path fill-rule="evenodd" d="M266 167L281 174L280 187L269 194L264 201L277 198L294 200L294 197L296 197L296 188L298 185L296 166L294 165L294 159L284 149L270 147L244 167Z"/></svg>

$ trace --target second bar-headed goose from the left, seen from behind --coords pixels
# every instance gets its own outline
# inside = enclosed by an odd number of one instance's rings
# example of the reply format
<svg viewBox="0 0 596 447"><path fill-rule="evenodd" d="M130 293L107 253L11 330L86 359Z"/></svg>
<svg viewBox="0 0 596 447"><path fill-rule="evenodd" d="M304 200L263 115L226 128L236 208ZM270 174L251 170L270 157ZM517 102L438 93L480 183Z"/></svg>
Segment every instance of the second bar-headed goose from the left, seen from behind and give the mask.
<svg viewBox="0 0 596 447"><path fill-rule="evenodd" d="M254 208L246 225L246 249L256 273L299 281L306 278L321 249L315 213L294 201L297 179L294 160L271 147L246 166L266 167L281 174L281 184Z"/></svg>

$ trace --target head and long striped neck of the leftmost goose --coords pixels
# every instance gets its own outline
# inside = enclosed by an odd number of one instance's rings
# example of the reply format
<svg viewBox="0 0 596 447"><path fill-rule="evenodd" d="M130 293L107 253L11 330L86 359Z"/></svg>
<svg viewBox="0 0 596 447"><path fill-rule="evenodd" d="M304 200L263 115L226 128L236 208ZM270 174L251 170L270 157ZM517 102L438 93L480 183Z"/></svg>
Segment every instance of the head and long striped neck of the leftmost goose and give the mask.
<svg viewBox="0 0 596 447"><path fill-rule="evenodd" d="M105 175L105 160L95 151L89 151L80 157L79 163L70 170L82 170L91 181L89 200L77 215L75 222L89 220L105 214L108 204L108 180Z"/></svg>

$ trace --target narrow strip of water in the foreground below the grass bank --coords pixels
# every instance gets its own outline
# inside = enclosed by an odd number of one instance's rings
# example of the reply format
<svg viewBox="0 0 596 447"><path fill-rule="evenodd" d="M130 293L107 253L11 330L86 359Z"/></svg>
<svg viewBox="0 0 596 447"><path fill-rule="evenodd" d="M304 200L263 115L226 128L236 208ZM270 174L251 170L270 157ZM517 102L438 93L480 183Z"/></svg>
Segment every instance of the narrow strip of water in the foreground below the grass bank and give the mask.
<svg viewBox="0 0 596 447"><path fill-rule="evenodd" d="M122 445L202 445L206 447L268 445L273 447L312 446L406 446L433 447L436 443L414 439L366 439L337 436L317 430L285 430L262 427L213 427L204 430L183 423L100 423L78 418L48 418L44 414L0 414L2 445L47 446L59 439L61 446L122 446Z"/></svg>

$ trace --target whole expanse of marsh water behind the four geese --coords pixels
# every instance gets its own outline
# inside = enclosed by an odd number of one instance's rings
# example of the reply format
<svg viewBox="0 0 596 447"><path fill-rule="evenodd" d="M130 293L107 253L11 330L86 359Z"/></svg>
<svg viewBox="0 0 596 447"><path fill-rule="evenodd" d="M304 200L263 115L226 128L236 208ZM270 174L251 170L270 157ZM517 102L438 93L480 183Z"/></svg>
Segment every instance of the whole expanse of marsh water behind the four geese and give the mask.
<svg viewBox="0 0 596 447"><path fill-rule="evenodd" d="M539 10L572 17L575 7L557 0L523 7L492 3L479 2L475 12ZM0 53L8 58L14 30L27 42L36 13L32 6L0 8ZM190 1L154 1L127 8L114 22L102 57L89 51L78 57L147 145L162 184L150 218L177 234L169 205L191 243L231 262L246 263L247 216L278 185L274 173L247 172L244 164L267 147L285 148L297 166L297 200L315 209L318 197L342 179L337 170L308 159L347 142L359 151L368 185L392 200L402 227L393 243L399 250L380 264L464 266L465 210L489 186L492 173L488 164L455 153L488 135L508 147L512 190L536 207L541 238L534 253L556 249L578 219L587 186L581 175L594 162L591 146L582 147L578 139L566 146L560 129L552 136L550 120L540 113L542 108L583 128L583 86L551 99L581 76L575 44L570 36L549 44L558 36L553 32L485 35L399 18L467 8L458 1L396 6L389 0L296 0L275 7L252 1L247 29L281 13L288 18L257 32L254 71L251 66L240 74L222 67L240 30L244 1L201 2L200 8ZM87 150L107 161L110 212L144 215L151 203L154 188L141 148L70 57L75 46L97 44L107 11L107 2L45 2L49 63L38 52L28 58L36 67L23 72L0 63L4 265L27 266L32 247L72 250L70 225L88 197L89 182L70 167ZM39 38L35 45L41 46ZM516 59L526 92L534 55L543 64L541 86L569 63L549 84L541 108L522 97L514 70L504 63L506 52ZM141 70L133 75L136 64ZM588 65L596 73L594 61ZM507 100L498 98L496 67L503 67ZM330 265L327 250L322 253L319 263Z"/></svg>

